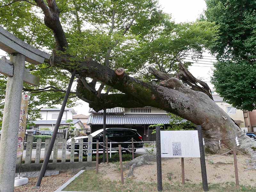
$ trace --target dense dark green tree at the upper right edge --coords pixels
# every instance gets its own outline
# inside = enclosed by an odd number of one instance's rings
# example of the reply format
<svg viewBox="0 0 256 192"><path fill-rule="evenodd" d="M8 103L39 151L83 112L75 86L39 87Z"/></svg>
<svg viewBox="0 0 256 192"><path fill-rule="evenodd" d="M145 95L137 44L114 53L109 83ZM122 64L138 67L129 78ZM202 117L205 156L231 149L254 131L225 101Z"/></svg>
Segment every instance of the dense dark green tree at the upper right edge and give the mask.
<svg viewBox="0 0 256 192"><path fill-rule="evenodd" d="M228 103L256 109L256 1L206 0L205 17L219 26L212 83Z"/></svg>

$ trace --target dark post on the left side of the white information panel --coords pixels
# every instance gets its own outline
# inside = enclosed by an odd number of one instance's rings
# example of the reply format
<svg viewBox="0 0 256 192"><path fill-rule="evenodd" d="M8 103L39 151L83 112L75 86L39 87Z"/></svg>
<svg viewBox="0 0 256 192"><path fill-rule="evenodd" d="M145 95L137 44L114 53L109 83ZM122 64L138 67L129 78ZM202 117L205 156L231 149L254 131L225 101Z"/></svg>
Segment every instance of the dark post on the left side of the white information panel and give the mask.
<svg viewBox="0 0 256 192"><path fill-rule="evenodd" d="M162 185L162 159L161 159L161 137L160 127L156 127L156 169L157 169L157 191L163 190Z"/></svg>

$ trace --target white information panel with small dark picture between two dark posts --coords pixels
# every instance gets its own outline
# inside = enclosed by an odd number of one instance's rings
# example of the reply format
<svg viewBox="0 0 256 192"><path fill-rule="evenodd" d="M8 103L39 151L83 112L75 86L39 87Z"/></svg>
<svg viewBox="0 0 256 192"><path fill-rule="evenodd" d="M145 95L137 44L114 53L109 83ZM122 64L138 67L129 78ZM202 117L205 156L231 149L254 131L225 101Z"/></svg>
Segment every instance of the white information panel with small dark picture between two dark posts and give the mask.
<svg viewBox="0 0 256 192"><path fill-rule="evenodd" d="M200 157L197 131L161 131L161 157Z"/></svg>

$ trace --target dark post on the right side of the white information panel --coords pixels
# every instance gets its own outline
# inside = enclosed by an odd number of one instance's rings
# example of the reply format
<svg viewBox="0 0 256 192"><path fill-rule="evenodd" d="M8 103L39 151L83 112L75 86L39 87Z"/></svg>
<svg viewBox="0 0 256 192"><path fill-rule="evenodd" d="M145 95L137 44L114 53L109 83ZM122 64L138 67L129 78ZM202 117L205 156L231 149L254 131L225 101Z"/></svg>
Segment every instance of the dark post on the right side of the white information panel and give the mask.
<svg viewBox="0 0 256 192"><path fill-rule="evenodd" d="M202 183L204 191L208 191L208 182L206 174L205 156L204 156L204 142L201 125L196 126L198 132L199 150L200 150L200 164L202 173Z"/></svg>

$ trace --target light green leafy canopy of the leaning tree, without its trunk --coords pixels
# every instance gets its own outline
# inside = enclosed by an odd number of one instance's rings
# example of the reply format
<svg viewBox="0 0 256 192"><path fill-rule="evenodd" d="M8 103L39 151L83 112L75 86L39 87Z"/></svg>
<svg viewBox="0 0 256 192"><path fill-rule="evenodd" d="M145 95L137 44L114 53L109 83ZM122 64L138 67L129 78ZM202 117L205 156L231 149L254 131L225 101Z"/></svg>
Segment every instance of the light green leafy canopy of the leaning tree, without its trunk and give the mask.
<svg viewBox="0 0 256 192"><path fill-rule="evenodd" d="M200 57L204 48L215 41L217 32L214 23L208 21L176 24L156 0L64 0L56 4L67 42L56 44L56 35L47 27L43 16L47 11L40 9L42 2L1 1L1 25L39 49L73 56L74 66L77 61L90 58L111 69L123 67L127 74L145 81L154 78L148 74L148 67L175 73L178 71L176 55L181 59L187 53ZM61 44L67 46L63 48ZM190 64L185 63L185 66ZM48 63L26 64L26 67L40 77L41 83L38 89L24 84L24 92L32 96L30 109L35 111L38 106L60 104L70 77L67 68L52 67ZM78 79L77 76L76 81ZM84 84L92 81L90 78L82 80ZM101 83L97 79L91 83L96 82ZM3 100L4 76L1 76L0 83ZM102 83L98 95L102 89L115 92ZM76 92L71 93L69 107L75 105L76 96ZM0 107L3 108L3 103Z"/></svg>

